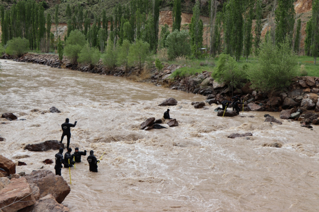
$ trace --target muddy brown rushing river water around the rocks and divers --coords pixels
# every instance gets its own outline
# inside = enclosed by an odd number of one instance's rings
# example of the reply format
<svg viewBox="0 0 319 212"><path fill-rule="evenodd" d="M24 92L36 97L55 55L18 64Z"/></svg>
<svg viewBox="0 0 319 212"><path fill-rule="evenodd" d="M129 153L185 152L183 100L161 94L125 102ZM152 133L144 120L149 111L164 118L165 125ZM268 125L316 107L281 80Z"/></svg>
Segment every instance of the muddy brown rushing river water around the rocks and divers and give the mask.
<svg viewBox="0 0 319 212"><path fill-rule="evenodd" d="M5 138L0 154L27 163L17 172L54 172L54 164L42 161L54 160L57 151L23 148L59 140L65 118L78 120L71 131L73 150L84 146L97 157L106 151L98 173L89 172L87 156L71 169L71 192L63 202L71 212L319 211L318 126L311 131L296 121L270 124L264 122L265 112L221 118L213 110L216 105L207 110L190 105L204 100L201 95L120 77L0 62L0 113L26 119L1 119L7 124L0 125ZM178 105L157 106L167 97ZM51 106L62 113L47 113ZM162 117L166 108L178 127L139 130L141 122ZM271 115L279 118L279 113ZM253 133L250 140L227 138L246 132ZM282 148L262 146L274 141ZM68 169L62 168L62 176L70 184Z"/></svg>

